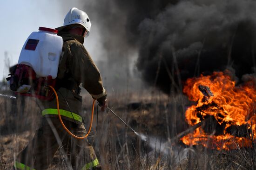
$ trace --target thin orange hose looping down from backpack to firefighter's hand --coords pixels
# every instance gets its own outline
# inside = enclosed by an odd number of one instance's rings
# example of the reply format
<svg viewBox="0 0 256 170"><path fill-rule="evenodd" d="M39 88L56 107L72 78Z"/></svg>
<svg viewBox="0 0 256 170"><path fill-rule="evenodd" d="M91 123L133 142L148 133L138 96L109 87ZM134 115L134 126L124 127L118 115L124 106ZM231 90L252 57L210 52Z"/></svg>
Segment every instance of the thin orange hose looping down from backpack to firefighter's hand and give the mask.
<svg viewBox="0 0 256 170"><path fill-rule="evenodd" d="M94 101L93 101L92 116L91 116L91 123L90 123L89 130L88 130L88 132L87 132L87 134L86 134L85 136L79 137L79 136L74 135L72 132L70 132L70 131L67 129L67 127L64 125L64 123L63 123L63 121L62 121L62 119L61 119L61 114L60 114L58 94L56 93L55 89L54 89L52 86L49 86L49 87L53 89L54 94L55 94L55 96L56 96L58 115L59 115L59 119L60 119L60 121L61 121L61 125L64 127L64 129L65 129L71 136L73 136L73 137L76 138L76 139L85 139L86 137L88 137L89 133L91 132L92 126L93 126L95 99L94 99Z"/></svg>

